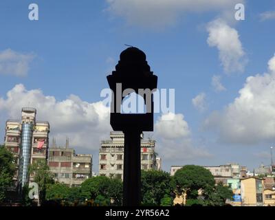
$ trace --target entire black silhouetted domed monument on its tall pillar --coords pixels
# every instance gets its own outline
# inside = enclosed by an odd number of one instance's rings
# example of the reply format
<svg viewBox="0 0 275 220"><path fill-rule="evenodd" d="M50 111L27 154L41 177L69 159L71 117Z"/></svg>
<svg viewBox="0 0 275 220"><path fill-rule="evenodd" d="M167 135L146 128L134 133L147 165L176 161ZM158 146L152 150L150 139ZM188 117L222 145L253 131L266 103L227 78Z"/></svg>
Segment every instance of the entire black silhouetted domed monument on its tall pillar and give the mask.
<svg viewBox="0 0 275 220"><path fill-rule="evenodd" d="M140 135L142 131L153 131L153 94L142 94L144 102L146 101L146 113L124 114L120 112L120 107L123 98L128 94L122 97L118 89L122 91L133 89L136 94L139 94L140 89L153 91L157 88L157 76L151 72L144 52L137 47L129 47L120 54L120 61L115 66L115 71L107 76L107 80L113 91L111 126L113 131L124 133L123 205L139 206L141 200Z"/></svg>

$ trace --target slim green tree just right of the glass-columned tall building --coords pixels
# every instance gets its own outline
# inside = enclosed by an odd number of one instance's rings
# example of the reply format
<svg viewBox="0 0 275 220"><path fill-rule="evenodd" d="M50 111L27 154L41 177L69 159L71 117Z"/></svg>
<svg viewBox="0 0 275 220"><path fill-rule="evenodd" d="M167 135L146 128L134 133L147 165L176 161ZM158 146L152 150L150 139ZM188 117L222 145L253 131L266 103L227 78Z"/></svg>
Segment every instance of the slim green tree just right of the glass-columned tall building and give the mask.
<svg viewBox="0 0 275 220"><path fill-rule="evenodd" d="M34 182L39 185L39 200L45 201L46 190L50 184L54 184L54 176L45 159L39 159L29 166L29 175L33 175Z"/></svg>

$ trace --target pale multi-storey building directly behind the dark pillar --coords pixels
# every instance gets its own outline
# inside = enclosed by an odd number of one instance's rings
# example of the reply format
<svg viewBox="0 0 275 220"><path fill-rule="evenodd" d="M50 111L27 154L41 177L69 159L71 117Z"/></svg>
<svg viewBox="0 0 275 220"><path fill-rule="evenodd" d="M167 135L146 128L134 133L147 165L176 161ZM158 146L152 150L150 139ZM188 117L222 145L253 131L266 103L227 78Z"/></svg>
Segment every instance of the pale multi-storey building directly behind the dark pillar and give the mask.
<svg viewBox="0 0 275 220"><path fill-rule="evenodd" d="M124 133L111 131L111 140L102 140L99 150L99 175L123 178ZM157 169L155 141L141 135L141 168Z"/></svg>

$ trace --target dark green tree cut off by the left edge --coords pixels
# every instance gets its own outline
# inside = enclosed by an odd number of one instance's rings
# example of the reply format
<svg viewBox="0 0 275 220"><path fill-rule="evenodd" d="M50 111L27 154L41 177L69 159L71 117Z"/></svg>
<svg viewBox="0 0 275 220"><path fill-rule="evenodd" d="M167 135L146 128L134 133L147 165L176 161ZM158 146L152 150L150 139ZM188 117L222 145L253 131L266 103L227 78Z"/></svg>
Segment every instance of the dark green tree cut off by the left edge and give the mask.
<svg viewBox="0 0 275 220"><path fill-rule="evenodd" d="M0 146L0 202L6 198L7 188L12 186L15 166L12 153Z"/></svg>

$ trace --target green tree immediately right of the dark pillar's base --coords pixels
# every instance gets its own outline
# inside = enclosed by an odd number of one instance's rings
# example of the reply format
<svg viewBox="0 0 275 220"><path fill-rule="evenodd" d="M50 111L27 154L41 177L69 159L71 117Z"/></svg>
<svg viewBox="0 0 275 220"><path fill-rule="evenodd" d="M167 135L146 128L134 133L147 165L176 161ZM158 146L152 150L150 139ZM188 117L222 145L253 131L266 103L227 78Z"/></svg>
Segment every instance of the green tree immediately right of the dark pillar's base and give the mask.
<svg viewBox="0 0 275 220"><path fill-rule="evenodd" d="M170 185L170 175L159 170L142 170L142 203L151 205L161 205L164 197L169 197L173 188ZM172 199L172 198L171 198Z"/></svg>

